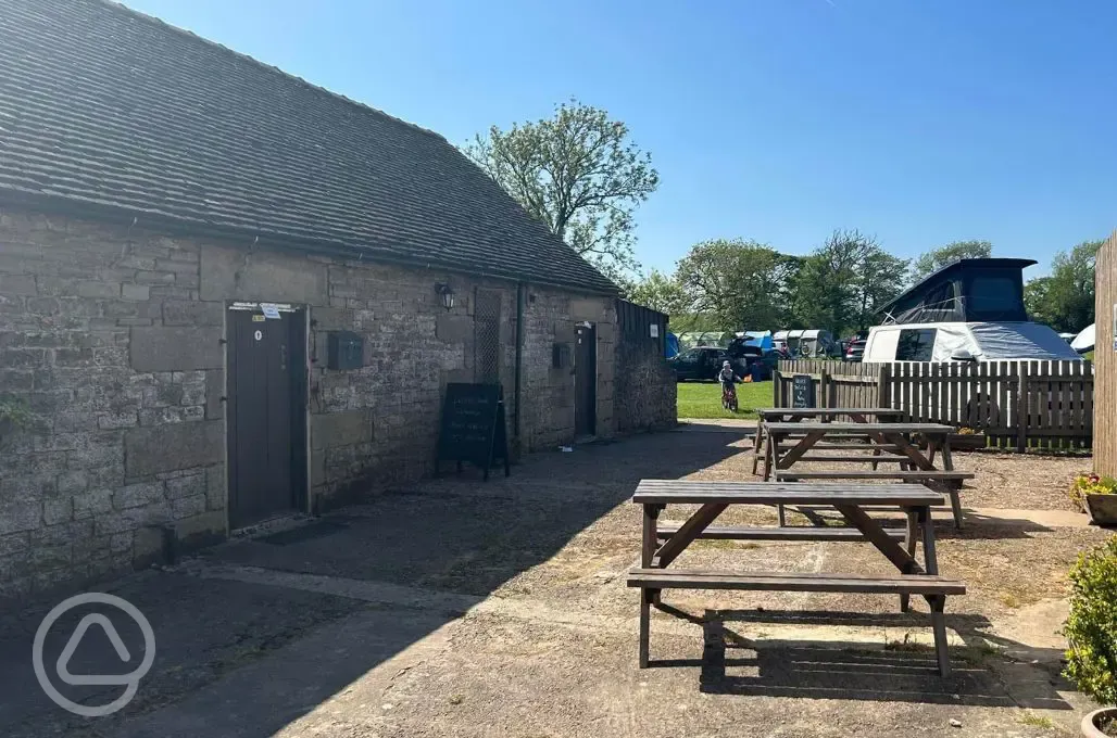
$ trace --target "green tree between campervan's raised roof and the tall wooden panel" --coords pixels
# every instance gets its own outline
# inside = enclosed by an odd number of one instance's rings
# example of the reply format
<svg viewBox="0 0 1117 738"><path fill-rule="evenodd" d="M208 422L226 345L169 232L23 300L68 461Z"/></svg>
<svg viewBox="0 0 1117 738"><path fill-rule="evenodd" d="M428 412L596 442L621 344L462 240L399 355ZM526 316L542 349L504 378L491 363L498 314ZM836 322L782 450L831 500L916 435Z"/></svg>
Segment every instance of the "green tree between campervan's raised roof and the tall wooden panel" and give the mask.
<svg viewBox="0 0 1117 738"><path fill-rule="evenodd" d="M1094 263L1102 241L1083 241L1051 260L1051 274L1024 285L1024 305L1033 320L1062 333L1094 323Z"/></svg>

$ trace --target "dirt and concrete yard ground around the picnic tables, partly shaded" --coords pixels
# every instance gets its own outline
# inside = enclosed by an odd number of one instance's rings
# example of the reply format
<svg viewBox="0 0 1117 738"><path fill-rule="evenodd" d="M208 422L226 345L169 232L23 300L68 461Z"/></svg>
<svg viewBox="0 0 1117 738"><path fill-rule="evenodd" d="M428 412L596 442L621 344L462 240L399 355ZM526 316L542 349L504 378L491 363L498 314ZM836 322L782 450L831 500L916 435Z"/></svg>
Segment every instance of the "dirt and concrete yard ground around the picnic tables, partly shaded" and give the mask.
<svg viewBox="0 0 1117 738"><path fill-rule="evenodd" d="M1108 535L1081 525L936 523L941 571L968 586L947 601L946 680L926 607L901 614L873 595L672 591L652 616L652 668L638 669L628 498L641 478L748 479L750 448L733 424L577 447L509 479L432 480L128 577L111 591L149 616L159 654L107 718L61 712L29 673L52 603L0 614L0 723L105 738L1077 735L1089 706L1058 674L1066 572ZM957 454L977 475L964 502L983 509L1066 509L1065 482L1086 464ZM734 521L775 511L719 520ZM677 565L890 568L858 543L699 541Z"/></svg>

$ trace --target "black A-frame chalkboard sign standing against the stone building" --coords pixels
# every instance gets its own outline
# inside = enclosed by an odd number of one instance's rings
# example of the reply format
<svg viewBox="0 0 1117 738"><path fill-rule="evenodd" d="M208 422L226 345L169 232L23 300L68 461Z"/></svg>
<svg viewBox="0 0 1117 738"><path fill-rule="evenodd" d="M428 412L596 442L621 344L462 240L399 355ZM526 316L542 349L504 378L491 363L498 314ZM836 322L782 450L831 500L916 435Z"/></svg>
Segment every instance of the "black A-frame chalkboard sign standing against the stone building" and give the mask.
<svg viewBox="0 0 1117 738"><path fill-rule="evenodd" d="M442 401L442 426L438 437L437 461L468 461L480 467L488 479L493 462L508 468L508 434L505 426L504 397L499 384L446 385Z"/></svg>

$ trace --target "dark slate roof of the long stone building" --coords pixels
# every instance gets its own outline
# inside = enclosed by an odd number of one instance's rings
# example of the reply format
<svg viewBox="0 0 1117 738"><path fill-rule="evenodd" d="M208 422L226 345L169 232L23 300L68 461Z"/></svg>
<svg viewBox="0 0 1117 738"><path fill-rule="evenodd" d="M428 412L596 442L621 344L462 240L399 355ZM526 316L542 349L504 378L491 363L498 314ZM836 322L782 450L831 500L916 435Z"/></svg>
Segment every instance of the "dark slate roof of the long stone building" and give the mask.
<svg viewBox="0 0 1117 738"><path fill-rule="evenodd" d="M107 0L0 0L0 202L617 290L441 136Z"/></svg>

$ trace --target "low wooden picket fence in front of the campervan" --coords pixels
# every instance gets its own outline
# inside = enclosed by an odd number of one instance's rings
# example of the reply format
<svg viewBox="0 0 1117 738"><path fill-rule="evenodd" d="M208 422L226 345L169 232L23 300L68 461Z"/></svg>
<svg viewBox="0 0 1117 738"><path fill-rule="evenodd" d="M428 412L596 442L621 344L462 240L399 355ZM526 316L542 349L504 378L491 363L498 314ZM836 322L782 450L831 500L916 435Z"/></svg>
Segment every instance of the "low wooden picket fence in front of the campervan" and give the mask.
<svg viewBox="0 0 1117 738"><path fill-rule="evenodd" d="M795 374L812 378L820 408L894 408L911 421L983 432L991 445L1090 448L1094 366L1080 361L855 364L780 362L776 408L791 404Z"/></svg>

